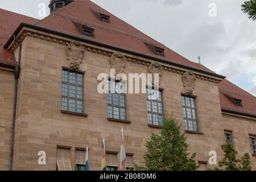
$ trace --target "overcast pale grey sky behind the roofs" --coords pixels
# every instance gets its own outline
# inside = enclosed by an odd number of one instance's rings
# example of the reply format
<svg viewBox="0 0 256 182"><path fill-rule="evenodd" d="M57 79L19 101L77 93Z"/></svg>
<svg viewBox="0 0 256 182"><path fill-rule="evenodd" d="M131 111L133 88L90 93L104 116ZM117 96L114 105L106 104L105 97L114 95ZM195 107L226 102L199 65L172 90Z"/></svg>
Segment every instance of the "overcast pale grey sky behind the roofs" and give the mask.
<svg viewBox="0 0 256 182"><path fill-rule="evenodd" d="M92 1L189 60L201 56L203 65L256 96L256 21L242 13L244 0ZM41 2L49 0L1 0L0 8L42 19Z"/></svg>

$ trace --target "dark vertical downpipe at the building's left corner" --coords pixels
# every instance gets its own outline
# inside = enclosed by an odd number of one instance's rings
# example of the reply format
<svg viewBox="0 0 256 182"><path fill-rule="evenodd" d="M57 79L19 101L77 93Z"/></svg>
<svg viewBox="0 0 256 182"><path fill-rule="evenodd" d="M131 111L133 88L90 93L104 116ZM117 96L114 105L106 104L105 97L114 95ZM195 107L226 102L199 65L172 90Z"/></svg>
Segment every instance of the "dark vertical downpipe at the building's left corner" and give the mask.
<svg viewBox="0 0 256 182"><path fill-rule="evenodd" d="M16 105L17 105L17 97L18 97L18 81L19 81L19 72L20 72L21 51L22 51L22 44L17 42L17 40L15 39L15 35L13 36L13 40L19 44L19 57L18 57L18 65L14 66L14 68L15 68L15 88L14 88L14 103L13 103L13 123L11 126L11 148L10 148L10 158L9 158L9 171L13 171Z"/></svg>

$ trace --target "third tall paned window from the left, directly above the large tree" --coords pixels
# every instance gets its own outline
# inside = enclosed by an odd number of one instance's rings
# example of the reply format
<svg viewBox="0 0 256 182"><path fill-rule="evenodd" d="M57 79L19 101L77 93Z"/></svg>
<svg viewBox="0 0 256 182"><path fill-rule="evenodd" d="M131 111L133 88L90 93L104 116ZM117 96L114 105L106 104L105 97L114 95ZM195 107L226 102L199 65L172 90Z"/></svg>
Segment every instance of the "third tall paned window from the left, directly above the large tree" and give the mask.
<svg viewBox="0 0 256 182"><path fill-rule="evenodd" d="M147 116L150 125L163 125L163 91L147 88Z"/></svg>

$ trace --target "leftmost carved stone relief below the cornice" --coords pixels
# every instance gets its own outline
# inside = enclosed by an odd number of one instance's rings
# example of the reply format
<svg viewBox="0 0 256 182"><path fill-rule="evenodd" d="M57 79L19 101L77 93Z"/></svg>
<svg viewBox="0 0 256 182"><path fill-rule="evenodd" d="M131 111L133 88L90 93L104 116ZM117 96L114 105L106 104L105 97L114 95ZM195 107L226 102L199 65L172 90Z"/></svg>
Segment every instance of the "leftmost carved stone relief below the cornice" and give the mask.
<svg viewBox="0 0 256 182"><path fill-rule="evenodd" d="M84 57L85 48L79 42L71 42L67 47L67 59L70 62L69 67L80 69L80 64Z"/></svg>

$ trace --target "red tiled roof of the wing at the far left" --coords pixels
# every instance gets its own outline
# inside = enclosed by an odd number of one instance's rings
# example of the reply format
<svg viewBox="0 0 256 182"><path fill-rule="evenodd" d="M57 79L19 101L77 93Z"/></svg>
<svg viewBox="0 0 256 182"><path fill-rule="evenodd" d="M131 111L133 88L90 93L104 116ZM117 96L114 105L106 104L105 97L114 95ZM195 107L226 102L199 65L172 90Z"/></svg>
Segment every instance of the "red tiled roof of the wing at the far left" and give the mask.
<svg viewBox="0 0 256 182"><path fill-rule="evenodd" d="M7 51L2 46L7 42L21 22L34 24L38 22L38 19L0 9L0 63L16 64L13 53Z"/></svg>

